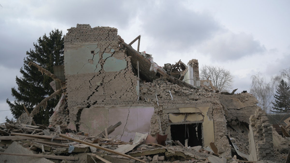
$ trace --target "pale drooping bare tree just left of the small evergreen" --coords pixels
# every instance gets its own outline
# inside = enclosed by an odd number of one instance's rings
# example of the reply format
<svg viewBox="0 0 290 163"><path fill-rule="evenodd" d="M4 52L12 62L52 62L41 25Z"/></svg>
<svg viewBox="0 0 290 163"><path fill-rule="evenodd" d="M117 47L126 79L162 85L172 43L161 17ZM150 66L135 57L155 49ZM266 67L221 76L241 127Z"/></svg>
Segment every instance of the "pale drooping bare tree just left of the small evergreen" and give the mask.
<svg viewBox="0 0 290 163"><path fill-rule="evenodd" d="M276 90L276 79L272 78L270 82L266 82L265 76L261 76L260 72L257 75L252 75L251 79L250 93L257 98L258 106L269 112L272 108L274 90Z"/></svg>

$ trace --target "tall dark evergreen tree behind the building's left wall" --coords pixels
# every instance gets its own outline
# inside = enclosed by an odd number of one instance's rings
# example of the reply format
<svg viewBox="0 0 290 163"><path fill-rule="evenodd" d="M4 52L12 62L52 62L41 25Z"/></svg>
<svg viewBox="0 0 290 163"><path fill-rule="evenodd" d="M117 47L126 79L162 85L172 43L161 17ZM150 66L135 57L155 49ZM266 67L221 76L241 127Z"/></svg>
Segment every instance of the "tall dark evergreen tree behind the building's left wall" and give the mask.
<svg viewBox="0 0 290 163"><path fill-rule="evenodd" d="M64 37L62 31L55 29L49 32L49 36L44 34L33 43L34 49L26 52L27 57L24 58L23 67L20 68L22 77L16 76L17 88L11 88L14 102L6 99L14 118L25 112L24 104L29 113L39 104L45 97L51 95L54 90L50 86L53 80L47 75L42 75L35 66L28 66L30 61L35 62L39 66L53 73L53 66L64 64ZM46 109L39 110L33 119L37 124L48 124L48 119L53 113L59 97L51 99L47 102Z"/></svg>

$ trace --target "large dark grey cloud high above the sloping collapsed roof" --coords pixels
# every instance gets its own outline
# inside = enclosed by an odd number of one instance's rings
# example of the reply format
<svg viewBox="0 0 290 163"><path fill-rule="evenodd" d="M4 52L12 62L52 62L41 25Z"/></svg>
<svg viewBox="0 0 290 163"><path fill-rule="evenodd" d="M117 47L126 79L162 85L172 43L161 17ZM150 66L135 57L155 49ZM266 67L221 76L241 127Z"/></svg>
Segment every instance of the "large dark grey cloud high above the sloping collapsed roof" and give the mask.
<svg viewBox="0 0 290 163"><path fill-rule="evenodd" d="M142 30L158 43L152 48L162 51L189 49L223 30L211 15L188 10L181 2L162 1L142 10Z"/></svg>

